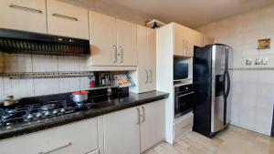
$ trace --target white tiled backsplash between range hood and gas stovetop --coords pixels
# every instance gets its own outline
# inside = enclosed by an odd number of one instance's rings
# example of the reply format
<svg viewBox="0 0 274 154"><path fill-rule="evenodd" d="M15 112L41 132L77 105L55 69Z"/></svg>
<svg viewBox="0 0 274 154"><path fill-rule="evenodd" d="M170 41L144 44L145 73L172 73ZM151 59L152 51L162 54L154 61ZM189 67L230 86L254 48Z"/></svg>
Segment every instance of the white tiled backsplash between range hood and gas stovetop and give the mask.
<svg viewBox="0 0 274 154"><path fill-rule="evenodd" d="M18 55L0 52L0 73L88 71L89 57ZM10 79L0 77L0 100L89 89L88 77Z"/></svg>

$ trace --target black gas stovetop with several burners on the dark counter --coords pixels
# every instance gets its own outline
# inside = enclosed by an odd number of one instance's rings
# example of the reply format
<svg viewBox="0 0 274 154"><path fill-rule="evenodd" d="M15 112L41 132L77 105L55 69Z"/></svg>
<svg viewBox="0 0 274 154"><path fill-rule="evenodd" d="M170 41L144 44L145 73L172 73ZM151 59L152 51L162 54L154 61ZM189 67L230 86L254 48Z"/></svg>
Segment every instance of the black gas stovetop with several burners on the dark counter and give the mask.
<svg viewBox="0 0 274 154"><path fill-rule="evenodd" d="M95 107L96 103L94 103L93 99L83 103L75 103L71 99L67 99L39 104L18 105L14 108L0 108L0 125L8 127L16 123L27 123L44 118L58 117Z"/></svg>

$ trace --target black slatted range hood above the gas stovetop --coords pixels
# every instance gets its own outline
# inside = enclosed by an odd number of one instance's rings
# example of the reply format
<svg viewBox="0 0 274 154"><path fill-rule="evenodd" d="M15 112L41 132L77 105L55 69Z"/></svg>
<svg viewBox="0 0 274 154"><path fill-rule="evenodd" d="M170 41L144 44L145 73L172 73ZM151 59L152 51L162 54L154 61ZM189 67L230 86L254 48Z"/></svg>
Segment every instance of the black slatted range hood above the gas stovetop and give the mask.
<svg viewBox="0 0 274 154"><path fill-rule="evenodd" d="M18 54L87 56L90 40L0 28L0 51Z"/></svg>

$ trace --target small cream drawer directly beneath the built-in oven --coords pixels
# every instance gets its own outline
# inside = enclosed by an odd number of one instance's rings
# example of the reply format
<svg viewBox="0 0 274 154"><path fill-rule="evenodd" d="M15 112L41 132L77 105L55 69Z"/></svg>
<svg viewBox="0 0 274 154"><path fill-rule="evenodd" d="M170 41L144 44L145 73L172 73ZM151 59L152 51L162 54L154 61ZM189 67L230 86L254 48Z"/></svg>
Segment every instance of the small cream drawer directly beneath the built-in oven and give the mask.
<svg viewBox="0 0 274 154"><path fill-rule="evenodd" d="M184 133L184 128L192 128L193 127L193 118L194 115L191 113L189 115L186 115L185 117L179 119L176 123L175 123L175 131L174 131L174 135L175 137Z"/></svg>

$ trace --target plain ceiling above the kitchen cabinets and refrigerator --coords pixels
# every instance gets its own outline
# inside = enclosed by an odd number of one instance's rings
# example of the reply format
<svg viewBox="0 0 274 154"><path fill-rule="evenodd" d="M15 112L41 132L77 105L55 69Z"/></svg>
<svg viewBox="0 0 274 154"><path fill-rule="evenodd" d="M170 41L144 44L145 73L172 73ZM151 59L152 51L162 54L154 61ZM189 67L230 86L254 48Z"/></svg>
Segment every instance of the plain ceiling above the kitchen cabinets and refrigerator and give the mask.
<svg viewBox="0 0 274 154"><path fill-rule="evenodd" d="M196 28L232 15L242 14L274 0L63 0L118 16L157 18ZM141 18L141 17L140 17Z"/></svg>

